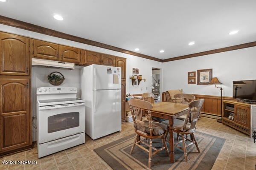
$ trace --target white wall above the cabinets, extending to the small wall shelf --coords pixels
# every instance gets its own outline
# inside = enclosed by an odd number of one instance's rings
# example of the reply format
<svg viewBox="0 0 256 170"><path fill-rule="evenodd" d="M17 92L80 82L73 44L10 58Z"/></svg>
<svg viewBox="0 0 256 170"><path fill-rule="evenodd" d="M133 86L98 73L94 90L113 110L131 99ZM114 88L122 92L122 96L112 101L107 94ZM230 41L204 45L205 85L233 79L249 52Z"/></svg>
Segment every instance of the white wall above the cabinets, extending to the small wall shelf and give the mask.
<svg viewBox="0 0 256 170"><path fill-rule="evenodd" d="M152 70L152 67L162 68L161 62L153 61L150 59L144 59L141 57L136 57L133 55L120 53L117 51L111 51L108 49L99 48L99 47L92 46L92 45L82 44L79 42L74 42L74 41L64 40L61 38L56 38L56 37L52 37L52 36L48 36L48 35L44 35L44 34L39 34L36 32L27 31L27 30L23 30L23 29L11 27L11 26L6 26L3 24L0 24L0 31L5 31L5 32L13 33L13 34L26 36L26 37L31 37L31 38L35 38L38 40L54 42L54 43L58 43L58 44L62 44L62 45L70 45L70 46L77 47L77 48L82 48L82 49L91 50L91 51L97 51L100 53L111 54L111 55L115 55L115 56L119 56L119 57L124 57L127 59L126 60L126 94L128 94L128 93L141 94L144 92L151 92L151 75L152 75L151 70ZM139 68L139 74L143 75L143 78L145 78L146 81L145 82L141 81L140 85L132 86L131 80L130 80L130 77L132 75L132 68ZM146 88L147 88L147 90L146 90Z"/></svg>

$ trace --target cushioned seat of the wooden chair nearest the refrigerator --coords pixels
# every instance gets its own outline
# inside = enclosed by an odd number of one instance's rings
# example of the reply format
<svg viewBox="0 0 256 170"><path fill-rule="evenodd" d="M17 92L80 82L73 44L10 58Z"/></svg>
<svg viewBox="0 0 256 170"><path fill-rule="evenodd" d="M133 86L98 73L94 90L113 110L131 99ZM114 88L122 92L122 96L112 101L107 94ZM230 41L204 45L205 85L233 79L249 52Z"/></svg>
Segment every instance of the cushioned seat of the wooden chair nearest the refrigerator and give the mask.
<svg viewBox="0 0 256 170"><path fill-rule="evenodd" d="M145 121L144 126L146 127L146 133L150 134L148 121ZM136 124L134 124L134 128L137 129ZM153 134L155 136L162 135L163 133L165 133L167 128L168 126L163 123L152 122Z"/></svg>

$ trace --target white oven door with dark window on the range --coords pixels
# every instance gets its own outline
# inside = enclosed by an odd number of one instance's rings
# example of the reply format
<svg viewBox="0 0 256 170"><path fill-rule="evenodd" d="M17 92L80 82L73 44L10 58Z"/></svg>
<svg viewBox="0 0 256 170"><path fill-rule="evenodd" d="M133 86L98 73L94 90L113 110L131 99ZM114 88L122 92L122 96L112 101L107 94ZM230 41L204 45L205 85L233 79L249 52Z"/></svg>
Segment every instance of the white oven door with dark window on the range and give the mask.
<svg viewBox="0 0 256 170"><path fill-rule="evenodd" d="M85 131L84 103L54 107L38 106L39 144Z"/></svg>

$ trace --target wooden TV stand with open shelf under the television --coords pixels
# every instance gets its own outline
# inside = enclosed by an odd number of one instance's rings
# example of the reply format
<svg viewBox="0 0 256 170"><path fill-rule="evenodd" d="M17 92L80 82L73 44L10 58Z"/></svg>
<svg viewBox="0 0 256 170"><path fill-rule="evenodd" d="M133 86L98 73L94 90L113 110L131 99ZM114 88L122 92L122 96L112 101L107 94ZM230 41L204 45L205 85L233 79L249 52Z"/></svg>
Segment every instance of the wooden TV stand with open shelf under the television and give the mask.
<svg viewBox="0 0 256 170"><path fill-rule="evenodd" d="M255 104L223 100L222 111L222 124L233 127L252 137L253 131L256 131Z"/></svg>

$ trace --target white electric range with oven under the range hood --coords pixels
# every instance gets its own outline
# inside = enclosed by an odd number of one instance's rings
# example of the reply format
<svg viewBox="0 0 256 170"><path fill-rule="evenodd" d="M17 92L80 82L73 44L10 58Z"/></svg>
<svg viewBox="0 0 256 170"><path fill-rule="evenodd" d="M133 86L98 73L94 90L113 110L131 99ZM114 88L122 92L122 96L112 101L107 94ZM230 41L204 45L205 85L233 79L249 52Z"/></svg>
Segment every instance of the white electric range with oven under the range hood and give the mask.
<svg viewBox="0 0 256 170"><path fill-rule="evenodd" d="M85 142L85 100L74 87L37 88L38 158Z"/></svg>

